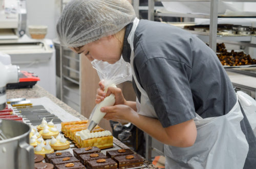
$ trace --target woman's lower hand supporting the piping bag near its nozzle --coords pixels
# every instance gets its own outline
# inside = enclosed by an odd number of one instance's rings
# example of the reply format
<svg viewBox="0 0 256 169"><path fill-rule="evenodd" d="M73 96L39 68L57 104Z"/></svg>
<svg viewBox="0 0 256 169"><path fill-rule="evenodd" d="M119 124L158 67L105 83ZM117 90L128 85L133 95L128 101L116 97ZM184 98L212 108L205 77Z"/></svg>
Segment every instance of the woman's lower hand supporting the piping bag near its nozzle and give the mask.
<svg viewBox="0 0 256 169"><path fill-rule="evenodd" d="M116 122L130 122L129 118L136 113L131 107L126 105L102 107L100 110L106 113L105 119L111 119Z"/></svg>

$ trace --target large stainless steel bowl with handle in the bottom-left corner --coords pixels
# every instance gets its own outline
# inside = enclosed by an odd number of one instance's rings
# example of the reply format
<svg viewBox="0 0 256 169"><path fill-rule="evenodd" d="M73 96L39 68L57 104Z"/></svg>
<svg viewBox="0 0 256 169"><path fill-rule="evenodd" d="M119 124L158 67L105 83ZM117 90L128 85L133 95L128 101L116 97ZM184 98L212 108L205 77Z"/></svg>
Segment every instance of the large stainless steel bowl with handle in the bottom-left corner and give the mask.
<svg viewBox="0 0 256 169"><path fill-rule="evenodd" d="M29 144L30 127L14 120L0 119L0 130L7 137L0 140L1 168L34 168L34 148Z"/></svg>

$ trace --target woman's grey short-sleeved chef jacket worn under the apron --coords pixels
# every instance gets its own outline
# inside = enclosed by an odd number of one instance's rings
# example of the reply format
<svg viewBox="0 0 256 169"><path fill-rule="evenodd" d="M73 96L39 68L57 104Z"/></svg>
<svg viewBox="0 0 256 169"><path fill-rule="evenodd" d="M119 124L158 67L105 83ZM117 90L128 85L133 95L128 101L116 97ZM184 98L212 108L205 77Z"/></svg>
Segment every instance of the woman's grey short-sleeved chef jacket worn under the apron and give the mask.
<svg viewBox="0 0 256 169"><path fill-rule="evenodd" d="M122 57L130 62L126 26ZM134 71L163 127L227 114L237 101L218 57L195 35L165 23L140 20L134 35ZM140 91L133 80L137 98ZM245 115L244 115L245 116ZM245 167L256 166L255 137L245 117L241 128L249 143ZM254 162L254 163L253 163Z"/></svg>

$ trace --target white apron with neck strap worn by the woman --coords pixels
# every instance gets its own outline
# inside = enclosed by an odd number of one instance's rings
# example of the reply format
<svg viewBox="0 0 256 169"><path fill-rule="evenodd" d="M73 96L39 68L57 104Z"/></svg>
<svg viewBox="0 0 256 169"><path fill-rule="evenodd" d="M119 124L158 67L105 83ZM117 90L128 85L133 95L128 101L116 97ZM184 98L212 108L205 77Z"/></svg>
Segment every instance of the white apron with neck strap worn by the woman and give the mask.
<svg viewBox="0 0 256 169"><path fill-rule="evenodd" d="M139 19L135 18L132 30L128 36L131 45L131 66L135 83L141 92L140 104L136 100L138 113L158 118L150 99L141 87L134 73L134 33ZM165 168L243 168L249 150L247 140L241 130L243 119L239 103L223 116L194 118L197 127L197 139L193 146L178 148L164 145L166 157Z"/></svg>

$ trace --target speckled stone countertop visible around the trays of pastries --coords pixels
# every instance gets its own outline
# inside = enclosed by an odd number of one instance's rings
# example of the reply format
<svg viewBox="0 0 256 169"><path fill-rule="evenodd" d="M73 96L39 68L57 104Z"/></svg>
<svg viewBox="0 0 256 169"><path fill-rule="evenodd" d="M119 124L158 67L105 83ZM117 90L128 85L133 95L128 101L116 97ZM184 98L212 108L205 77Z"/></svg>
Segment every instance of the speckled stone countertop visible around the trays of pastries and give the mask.
<svg viewBox="0 0 256 169"><path fill-rule="evenodd" d="M7 89L6 90L6 98L12 99L12 98L42 98L46 96L51 101L53 101L55 104L57 104L59 107L67 111L68 113L80 118L81 120L87 119L80 113L78 113L76 110L68 106L67 104L60 101L58 98L56 98L54 95L46 91L44 88L40 87L39 85L35 85L32 88L22 88L22 89ZM121 141L116 139L114 137L113 142L117 144L122 149L128 149L128 147L123 144ZM155 167L150 161L147 161L144 159L144 164L147 165L146 168L157 168Z"/></svg>

